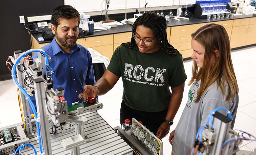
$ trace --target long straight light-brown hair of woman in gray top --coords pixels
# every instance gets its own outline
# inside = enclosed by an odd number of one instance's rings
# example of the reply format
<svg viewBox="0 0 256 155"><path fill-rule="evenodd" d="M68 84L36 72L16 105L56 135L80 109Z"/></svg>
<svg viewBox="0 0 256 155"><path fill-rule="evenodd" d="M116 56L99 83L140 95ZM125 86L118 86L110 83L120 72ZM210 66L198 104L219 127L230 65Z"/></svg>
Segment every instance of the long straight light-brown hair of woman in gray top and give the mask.
<svg viewBox="0 0 256 155"><path fill-rule="evenodd" d="M229 36L225 28L218 24L207 24L192 33L191 37L205 47L203 67L198 71L195 61L193 62L193 73L189 82L191 85L194 80L201 79L195 102L199 102L206 89L215 81L223 95L226 91L225 85L228 85L226 101L234 98L238 93L238 84L231 60ZM210 68L210 57L212 54L215 56L215 50L219 51L219 57L215 57L214 65Z"/></svg>

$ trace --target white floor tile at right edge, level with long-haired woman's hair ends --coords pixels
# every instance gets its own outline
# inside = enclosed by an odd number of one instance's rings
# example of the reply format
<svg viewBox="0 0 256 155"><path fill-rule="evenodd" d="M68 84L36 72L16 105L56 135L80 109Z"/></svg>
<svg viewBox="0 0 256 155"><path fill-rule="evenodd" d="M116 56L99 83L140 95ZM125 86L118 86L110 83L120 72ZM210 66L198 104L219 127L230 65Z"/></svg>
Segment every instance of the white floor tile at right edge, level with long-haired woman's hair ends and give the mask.
<svg viewBox="0 0 256 155"><path fill-rule="evenodd" d="M256 94L252 95L242 89L239 89L238 95L239 95L238 108L256 101Z"/></svg>

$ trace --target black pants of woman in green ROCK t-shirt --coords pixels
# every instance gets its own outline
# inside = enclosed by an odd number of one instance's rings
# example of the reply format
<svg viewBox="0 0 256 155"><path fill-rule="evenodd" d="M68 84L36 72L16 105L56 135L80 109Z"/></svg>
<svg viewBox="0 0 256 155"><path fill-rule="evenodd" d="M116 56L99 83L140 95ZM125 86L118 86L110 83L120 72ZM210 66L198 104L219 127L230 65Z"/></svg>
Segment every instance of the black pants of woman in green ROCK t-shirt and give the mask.
<svg viewBox="0 0 256 155"><path fill-rule="evenodd" d="M139 111L130 108L124 103L124 101L122 101L120 109L120 124L122 125L126 119L129 119L132 122L132 118L135 118L137 121L141 121L151 132L157 134L159 126L164 122L167 111L168 107L160 112Z"/></svg>

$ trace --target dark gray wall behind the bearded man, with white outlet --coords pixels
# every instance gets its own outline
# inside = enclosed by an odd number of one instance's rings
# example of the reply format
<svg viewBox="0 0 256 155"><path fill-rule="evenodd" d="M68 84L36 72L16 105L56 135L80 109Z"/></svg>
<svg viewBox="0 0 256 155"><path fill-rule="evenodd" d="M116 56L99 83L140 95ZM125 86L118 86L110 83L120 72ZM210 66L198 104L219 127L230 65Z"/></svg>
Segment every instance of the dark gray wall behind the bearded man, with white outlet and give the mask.
<svg viewBox="0 0 256 155"><path fill-rule="evenodd" d="M52 10L64 0L0 0L0 80L10 79L5 61L13 51L30 49L27 30L20 24L19 16L51 15Z"/></svg>

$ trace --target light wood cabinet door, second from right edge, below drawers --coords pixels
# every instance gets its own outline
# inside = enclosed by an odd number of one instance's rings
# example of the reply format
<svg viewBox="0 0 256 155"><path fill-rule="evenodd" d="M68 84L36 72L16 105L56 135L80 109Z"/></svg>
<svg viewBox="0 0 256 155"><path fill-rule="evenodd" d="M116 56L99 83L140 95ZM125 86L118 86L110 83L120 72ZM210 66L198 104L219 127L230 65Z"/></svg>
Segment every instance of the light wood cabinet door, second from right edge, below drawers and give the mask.
<svg viewBox="0 0 256 155"><path fill-rule="evenodd" d="M247 31L248 25L233 27L230 39L230 47L236 48L240 46L245 46Z"/></svg>

